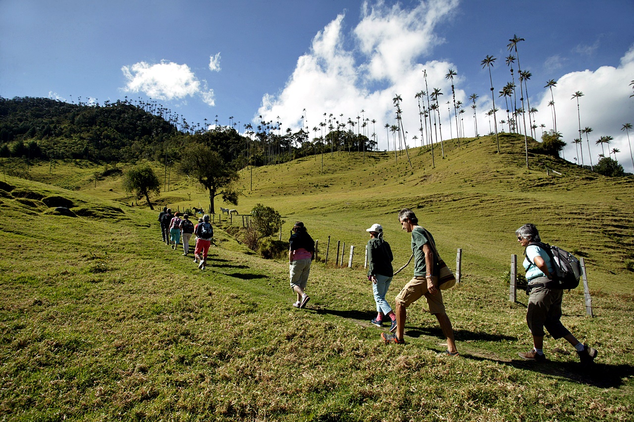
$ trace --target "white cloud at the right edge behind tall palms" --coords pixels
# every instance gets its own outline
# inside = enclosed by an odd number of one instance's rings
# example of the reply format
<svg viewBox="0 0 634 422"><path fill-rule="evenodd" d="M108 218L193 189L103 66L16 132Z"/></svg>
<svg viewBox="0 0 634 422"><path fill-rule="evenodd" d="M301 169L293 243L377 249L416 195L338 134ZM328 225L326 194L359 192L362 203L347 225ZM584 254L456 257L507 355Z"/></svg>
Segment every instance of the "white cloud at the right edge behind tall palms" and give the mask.
<svg viewBox="0 0 634 422"><path fill-rule="evenodd" d="M610 149L617 148L621 152L617 159L624 169L634 172L634 166L630 158L630 145L626 133L621 131L623 124L634 124L634 98L630 98L630 84L634 75L634 46L632 46L621 58L618 67L602 66L597 70L584 70L583 72L571 72L557 80L557 86L553 87L555 99L555 113L557 114L557 131L564 136L568 146L564 150L567 160L574 162L577 157L575 138L579 137L579 117L577 101L573 94L581 91L583 96L579 98L579 114L581 116L581 129L592 127L588 134L590 141L590 155L588 155L588 142L585 134L583 139L583 163L588 165L590 158L596 164L601 146L595 142L601 136L612 136L614 141ZM537 124L543 123L547 129L552 129L552 111L548 106L551 100L550 91L545 90L541 94L541 100L536 107L540 112ZM531 104L532 105L532 104ZM634 138L630 134L631 141ZM607 147L604 147L607 148ZM607 151L605 151L607 155ZM612 156L614 157L614 156ZM579 156L581 162L581 156Z"/></svg>

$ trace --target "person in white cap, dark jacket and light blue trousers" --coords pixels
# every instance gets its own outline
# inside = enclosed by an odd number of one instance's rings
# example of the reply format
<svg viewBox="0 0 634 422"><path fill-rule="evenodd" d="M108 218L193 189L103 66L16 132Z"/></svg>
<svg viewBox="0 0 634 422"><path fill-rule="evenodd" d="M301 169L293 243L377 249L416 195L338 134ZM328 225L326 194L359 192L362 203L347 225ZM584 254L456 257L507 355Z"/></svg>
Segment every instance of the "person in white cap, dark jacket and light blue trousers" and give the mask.
<svg viewBox="0 0 634 422"><path fill-rule="evenodd" d="M368 240L368 280L372 281L374 300L377 303L377 317L370 323L377 327L383 326L385 316L391 321L390 331L396 329L396 314L390 304L385 300L385 293L390 288L394 269L392 269L392 249L383 238L383 227L380 224L372 224L366 229L370 232Z"/></svg>

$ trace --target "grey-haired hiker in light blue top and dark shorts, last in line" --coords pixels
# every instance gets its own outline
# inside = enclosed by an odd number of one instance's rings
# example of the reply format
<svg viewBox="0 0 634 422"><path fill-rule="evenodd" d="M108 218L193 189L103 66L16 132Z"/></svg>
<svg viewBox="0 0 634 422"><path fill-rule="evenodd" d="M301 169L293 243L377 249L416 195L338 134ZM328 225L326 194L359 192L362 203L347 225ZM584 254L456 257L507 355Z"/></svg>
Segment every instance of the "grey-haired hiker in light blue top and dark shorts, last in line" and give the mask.
<svg viewBox="0 0 634 422"><path fill-rule="evenodd" d="M564 338L577 351L579 360L583 366L588 366L597 357L597 349L588 347L579 342L564 324L561 323L561 303L564 290L546 287L552 278L555 268L541 243L540 233L534 224L527 223L515 231L517 241L526 248L524 250L524 269L526 270L526 291L529 293L526 310L526 323L533 335L533 348L529 352L520 352L518 355L527 361L545 361L543 352L544 328L550 335Z"/></svg>

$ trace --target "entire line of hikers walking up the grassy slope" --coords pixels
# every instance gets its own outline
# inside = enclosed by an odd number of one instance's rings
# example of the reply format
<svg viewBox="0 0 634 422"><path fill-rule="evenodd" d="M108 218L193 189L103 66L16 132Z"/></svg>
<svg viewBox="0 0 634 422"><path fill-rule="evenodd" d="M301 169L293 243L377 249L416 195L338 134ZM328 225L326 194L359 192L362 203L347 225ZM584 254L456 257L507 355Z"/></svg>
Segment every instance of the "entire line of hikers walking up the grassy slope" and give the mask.
<svg viewBox="0 0 634 422"><path fill-rule="evenodd" d="M168 220L171 212L165 208L167 216L159 217L162 226ZM183 233L183 221L188 221L188 215L179 219L178 213L169 217L170 222L165 223L163 229L164 240L170 244L178 245L178 231ZM385 293L389 289L394 276L392 268L392 250L389 243L383 237L383 227L380 224L372 224L366 231L370 234L368 240L368 281L372 283L377 316L370 321L375 326L382 327L384 321L389 324L389 331L381 333L382 341L386 344L404 344L404 329L407 317L407 308L421 297L425 297L429 313L436 319L446 338L447 348L439 355L457 357L460 355L453 335L451 321L447 315L443 302L443 293L439 288L438 262L436 242L432 234L418 224L418 218L409 208L403 208L398 213L398 219L404 231L411 234L411 252L414 260L413 278L406 283L394 300L394 309L385 300ZM209 224L209 215L202 218L202 224ZM204 268L209 249L209 240L204 234L198 234L201 222L193 229L197 234L195 260L200 259L199 267ZM210 227L210 225L209 225ZM178 229L177 229L178 228ZM169 233L170 237L166 238ZM212 234L213 235L213 234ZM529 301L526 311L526 323L533 336L533 348L529 352L520 352L518 355L528 361L545 361L543 352L544 328L554 338L564 338L576 350L579 361L584 366L589 366L597 357L597 349L589 347L577 340L577 338L561 323L563 290L552 288L548 283L555 274L554 263L545 248L541 245L540 234L534 224L524 224L515 231L517 241L525 248L523 265L526 270L527 293ZM190 234L191 236L191 234ZM211 236L210 236L211 237ZM199 243L200 245L199 251ZM206 242L206 248L205 248ZM315 257L314 240L308 234L304 223L295 222L288 240L288 263L290 288L294 291L297 300L293 307L303 309L310 300L306 294L306 285L310 274L311 263ZM176 246L173 246L176 248ZM185 253L187 255L187 249Z"/></svg>

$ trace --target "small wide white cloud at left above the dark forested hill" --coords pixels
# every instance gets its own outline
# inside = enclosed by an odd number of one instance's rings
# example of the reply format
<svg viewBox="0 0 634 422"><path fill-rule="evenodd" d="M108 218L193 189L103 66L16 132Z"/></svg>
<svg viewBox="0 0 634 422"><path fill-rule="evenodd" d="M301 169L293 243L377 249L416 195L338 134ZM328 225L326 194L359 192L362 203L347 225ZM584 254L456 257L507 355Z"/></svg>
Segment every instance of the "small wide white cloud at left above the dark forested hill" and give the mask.
<svg viewBox="0 0 634 422"><path fill-rule="evenodd" d="M150 98L162 100L199 96L207 105L215 105L213 89L207 87L205 80L198 80L188 65L166 60L154 65L140 61L122 67L121 71L127 80L123 88L126 92L142 92Z"/></svg>

